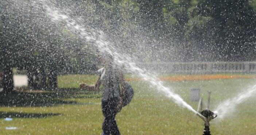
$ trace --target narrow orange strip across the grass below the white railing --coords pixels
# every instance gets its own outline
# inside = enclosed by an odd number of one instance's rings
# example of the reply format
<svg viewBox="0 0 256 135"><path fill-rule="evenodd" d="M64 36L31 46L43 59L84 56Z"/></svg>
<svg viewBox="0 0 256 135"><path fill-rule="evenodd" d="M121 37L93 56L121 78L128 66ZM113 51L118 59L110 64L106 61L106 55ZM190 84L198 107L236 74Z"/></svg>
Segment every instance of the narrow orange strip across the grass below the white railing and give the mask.
<svg viewBox="0 0 256 135"><path fill-rule="evenodd" d="M256 78L255 75L175 75L159 77L162 81L189 81L189 80L216 80L216 79L243 79ZM140 78L127 78L127 81L139 81Z"/></svg>

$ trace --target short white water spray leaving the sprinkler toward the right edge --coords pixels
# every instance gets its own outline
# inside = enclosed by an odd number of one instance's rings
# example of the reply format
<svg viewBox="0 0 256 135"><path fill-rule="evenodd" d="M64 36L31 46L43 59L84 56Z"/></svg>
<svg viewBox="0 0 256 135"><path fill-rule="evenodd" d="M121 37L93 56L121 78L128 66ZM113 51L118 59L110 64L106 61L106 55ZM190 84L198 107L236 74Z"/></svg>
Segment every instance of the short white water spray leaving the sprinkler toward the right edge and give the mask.
<svg viewBox="0 0 256 135"><path fill-rule="evenodd" d="M252 96L256 94L256 85L249 86L248 89L244 92L241 92L236 97L232 99L227 99L224 102L220 103L216 107L216 111L218 113L218 119L223 119L226 116L231 115L235 110L236 106L245 100L248 100Z"/></svg>

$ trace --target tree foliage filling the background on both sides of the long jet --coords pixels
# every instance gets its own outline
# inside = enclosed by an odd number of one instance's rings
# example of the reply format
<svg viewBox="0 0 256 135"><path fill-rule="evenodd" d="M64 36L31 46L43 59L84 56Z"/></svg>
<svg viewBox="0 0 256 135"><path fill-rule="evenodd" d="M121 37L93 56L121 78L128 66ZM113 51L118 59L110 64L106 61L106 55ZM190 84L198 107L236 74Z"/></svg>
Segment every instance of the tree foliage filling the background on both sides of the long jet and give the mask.
<svg viewBox="0 0 256 135"><path fill-rule="evenodd" d="M256 59L255 0L49 0L103 31L117 47L148 60ZM56 67L78 72L95 62L93 43L31 0L1 1L1 61L4 65ZM122 50L121 49L121 50Z"/></svg>

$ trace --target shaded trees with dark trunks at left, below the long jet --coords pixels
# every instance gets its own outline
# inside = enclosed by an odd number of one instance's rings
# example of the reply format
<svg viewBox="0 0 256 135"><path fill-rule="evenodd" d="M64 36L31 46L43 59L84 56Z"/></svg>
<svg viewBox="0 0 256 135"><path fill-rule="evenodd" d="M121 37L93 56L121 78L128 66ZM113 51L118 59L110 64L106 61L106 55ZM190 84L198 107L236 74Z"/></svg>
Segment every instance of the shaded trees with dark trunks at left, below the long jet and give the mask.
<svg viewBox="0 0 256 135"><path fill-rule="evenodd" d="M80 61L89 56L80 53L78 57L77 50L90 52L81 49L84 42L66 34L63 25L53 22L40 3L28 3L30 0L0 3L0 61L7 91L13 90L13 67L28 70L28 81L34 89L57 88L59 72L78 69L79 64L72 57Z"/></svg>

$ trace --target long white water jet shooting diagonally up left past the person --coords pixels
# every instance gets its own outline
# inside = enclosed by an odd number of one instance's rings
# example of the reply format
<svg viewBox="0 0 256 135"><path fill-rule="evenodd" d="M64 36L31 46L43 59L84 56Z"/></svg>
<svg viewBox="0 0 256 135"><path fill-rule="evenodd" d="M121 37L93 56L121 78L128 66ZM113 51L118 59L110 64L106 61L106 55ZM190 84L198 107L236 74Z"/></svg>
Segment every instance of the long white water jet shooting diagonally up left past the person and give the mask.
<svg viewBox="0 0 256 135"><path fill-rule="evenodd" d="M51 7L50 5L44 4L44 7L47 9L48 14L53 18L54 21L62 22L69 28L70 31L79 33L79 36L82 39L85 39L89 42L94 42L98 49L102 53L108 53L114 57L114 63L124 68L128 72L131 72L134 75L139 75L142 79L146 80L157 88L157 90L162 91L168 98L171 98L179 106L187 108L194 113L197 113L189 104L187 104L179 95L175 94L170 88L164 87L163 82L156 78L156 76L150 74L147 70L141 69L136 66L136 63L131 56L127 54L120 54L117 48L114 47L108 40L104 38L104 33L97 31L95 29L90 29L88 31L79 23L79 20L72 19L67 14L61 13L58 8Z"/></svg>

